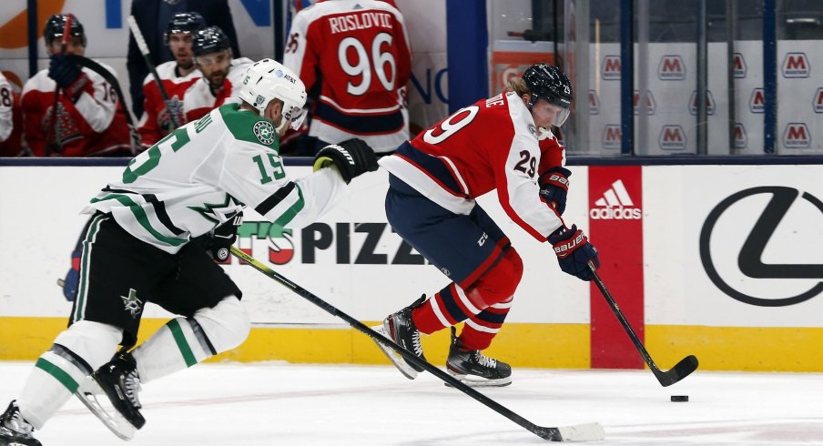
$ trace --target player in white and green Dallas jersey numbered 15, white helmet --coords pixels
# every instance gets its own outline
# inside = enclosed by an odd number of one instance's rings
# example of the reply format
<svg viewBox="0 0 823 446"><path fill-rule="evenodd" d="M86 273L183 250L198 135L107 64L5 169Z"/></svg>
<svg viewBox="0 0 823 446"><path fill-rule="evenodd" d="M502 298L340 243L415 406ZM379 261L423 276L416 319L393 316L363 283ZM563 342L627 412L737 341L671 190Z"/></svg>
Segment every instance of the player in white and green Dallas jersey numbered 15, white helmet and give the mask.
<svg viewBox="0 0 823 446"><path fill-rule="evenodd" d="M377 169L371 148L351 140L321 150L312 175L290 178L279 135L300 125L305 87L270 59L250 66L245 80L241 104L179 127L135 157L84 209L95 217L69 328L0 415L0 444L39 445L33 428L78 390L109 429L130 438L145 423L141 382L234 349L249 334L240 290L191 239L230 225L247 206L274 224L300 227L339 202L353 177ZM128 352L147 302L179 317ZM116 353L118 344L124 349ZM117 411L96 404L95 391Z"/></svg>

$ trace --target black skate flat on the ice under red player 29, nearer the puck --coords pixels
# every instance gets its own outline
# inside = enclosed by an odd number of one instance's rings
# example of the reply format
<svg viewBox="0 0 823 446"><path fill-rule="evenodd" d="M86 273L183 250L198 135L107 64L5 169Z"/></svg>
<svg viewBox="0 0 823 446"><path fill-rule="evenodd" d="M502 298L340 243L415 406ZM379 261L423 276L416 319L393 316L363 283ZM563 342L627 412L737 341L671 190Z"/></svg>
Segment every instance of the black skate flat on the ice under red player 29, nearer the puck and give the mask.
<svg viewBox="0 0 823 446"><path fill-rule="evenodd" d="M509 364L488 358L480 350L464 349L454 327L446 370L454 378L475 387L503 387L512 383L512 368Z"/></svg>

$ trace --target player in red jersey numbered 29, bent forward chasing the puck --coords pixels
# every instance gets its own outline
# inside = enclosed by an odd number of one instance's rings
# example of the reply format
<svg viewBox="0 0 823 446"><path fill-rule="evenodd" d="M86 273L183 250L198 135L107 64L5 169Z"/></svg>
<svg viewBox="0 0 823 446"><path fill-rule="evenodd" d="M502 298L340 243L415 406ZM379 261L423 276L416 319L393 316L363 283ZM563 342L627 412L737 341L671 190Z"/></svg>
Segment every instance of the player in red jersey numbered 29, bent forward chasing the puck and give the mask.
<svg viewBox="0 0 823 446"><path fill-rule="evenodd" d="M391 314L382 329L423 357L420 333L452 327L447 370L470 385L504 386L511 367L483 355L512 307L523 262L474 198L492 190L508 218L554 247L560 268L593 279L597 251L561 214L571 172L551 128L569 115L572 89L562 71L529 67L503 93L463 107L403 144L380 164L390 172L391 227L452 280ZM453 326L465 321L461 335ZM380 345L380 344L379 344ZM408 378L422 369L382 348Z"/></svg>

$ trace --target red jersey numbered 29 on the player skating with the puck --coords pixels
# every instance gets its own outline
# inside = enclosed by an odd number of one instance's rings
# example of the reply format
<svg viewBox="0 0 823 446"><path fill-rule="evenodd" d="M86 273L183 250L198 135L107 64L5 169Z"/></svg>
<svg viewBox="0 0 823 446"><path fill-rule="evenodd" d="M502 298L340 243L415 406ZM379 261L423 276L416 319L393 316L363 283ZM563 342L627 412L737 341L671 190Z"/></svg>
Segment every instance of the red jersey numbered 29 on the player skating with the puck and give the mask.
<svg viewBox="0 0 823 446"><path fill-rule="evenodd" d="M537 180L563 162L552 132L536 128L523 101L507 93L461 108L380 165L458 214L468 215L474 198L497 189L506 214L546 241L563 220L540 198Z"/></svg>

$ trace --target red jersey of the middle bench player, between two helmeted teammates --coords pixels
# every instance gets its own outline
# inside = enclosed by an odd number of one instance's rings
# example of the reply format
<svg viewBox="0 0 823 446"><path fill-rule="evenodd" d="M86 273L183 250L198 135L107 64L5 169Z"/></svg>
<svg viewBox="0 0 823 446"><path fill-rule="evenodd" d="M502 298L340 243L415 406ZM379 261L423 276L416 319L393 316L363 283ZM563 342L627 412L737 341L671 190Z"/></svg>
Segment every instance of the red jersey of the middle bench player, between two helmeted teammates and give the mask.
<svg viewBox="0 0 823 446"><path fill-rule="evenodd" d="M189 86L195 83L200 76L200 70L196 69L187 76L178 76L177 61L168 61L157 66L157 76L166 89L168 95L168 108L160 94L154 76L146 76L143 81L143 117L137 131L140 133L140 145L148 148L157 141L168 135L175 127L169 109L178 119L178 126L186 124L186 117L183 114L183 95Z"/></svg>

